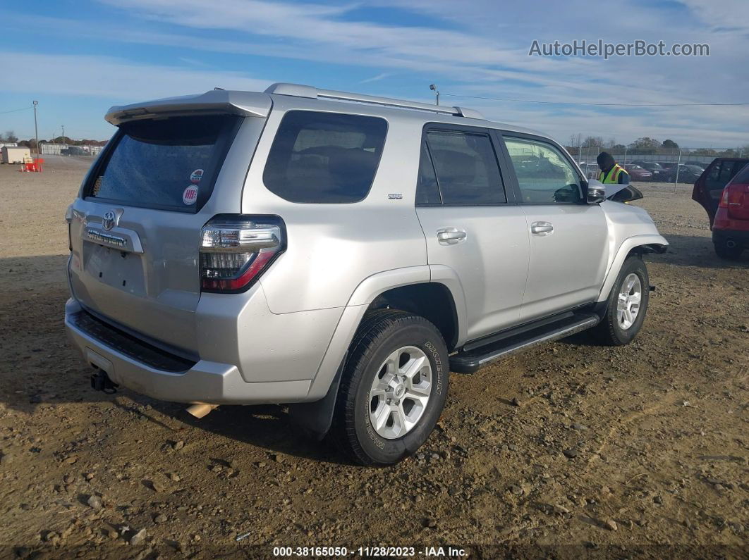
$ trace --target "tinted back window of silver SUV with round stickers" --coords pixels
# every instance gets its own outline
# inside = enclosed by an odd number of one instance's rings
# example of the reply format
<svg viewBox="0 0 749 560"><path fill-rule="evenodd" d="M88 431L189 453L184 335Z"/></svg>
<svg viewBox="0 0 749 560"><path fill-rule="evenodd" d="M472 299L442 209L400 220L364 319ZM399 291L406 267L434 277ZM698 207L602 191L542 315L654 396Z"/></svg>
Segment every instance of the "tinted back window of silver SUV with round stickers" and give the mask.
<svg viewBox="0 0 749 560"><path fill-rule="evenodd" d="M171 117L124 123L88 185L88 196L125 206L197 212L240 117Z"/></svg>

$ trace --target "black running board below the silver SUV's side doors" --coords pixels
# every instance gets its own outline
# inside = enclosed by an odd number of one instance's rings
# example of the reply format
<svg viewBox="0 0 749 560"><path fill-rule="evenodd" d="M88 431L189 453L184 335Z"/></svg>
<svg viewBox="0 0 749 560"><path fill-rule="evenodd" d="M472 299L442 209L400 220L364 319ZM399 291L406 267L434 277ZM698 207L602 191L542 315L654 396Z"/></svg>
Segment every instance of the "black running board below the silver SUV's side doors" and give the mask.
<svg viewBox="0 0 749 560"><path fill-rule="evenodd" d="M595 313L568 313L563 319L548 323L539 321L538 326L521 327L509 330L505 336L485 345L471 345L470 349L458 352L450 358L450 371L457 373L473 373L476 369L487 365L501 357L515 354L530 346L551 342L579 333L581 330L595 327L600 318Z"/></svg>

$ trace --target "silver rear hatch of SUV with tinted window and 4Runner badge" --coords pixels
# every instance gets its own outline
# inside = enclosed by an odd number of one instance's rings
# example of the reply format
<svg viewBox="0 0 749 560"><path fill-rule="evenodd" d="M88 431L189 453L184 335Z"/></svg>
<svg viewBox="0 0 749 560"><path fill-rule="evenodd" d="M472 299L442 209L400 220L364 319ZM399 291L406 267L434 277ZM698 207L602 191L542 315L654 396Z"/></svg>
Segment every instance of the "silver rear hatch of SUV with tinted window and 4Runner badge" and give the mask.
<svg viewBox="0 0 749 560"><path fill-rule="evenodd" d="M243 167L229 160L244 121L264 119L157 114L119 123L70 211L70 288L90 313L194 355L201 228L240 208L252 150L234 156ZM261 124L251 128L259 135Z"/></svg>

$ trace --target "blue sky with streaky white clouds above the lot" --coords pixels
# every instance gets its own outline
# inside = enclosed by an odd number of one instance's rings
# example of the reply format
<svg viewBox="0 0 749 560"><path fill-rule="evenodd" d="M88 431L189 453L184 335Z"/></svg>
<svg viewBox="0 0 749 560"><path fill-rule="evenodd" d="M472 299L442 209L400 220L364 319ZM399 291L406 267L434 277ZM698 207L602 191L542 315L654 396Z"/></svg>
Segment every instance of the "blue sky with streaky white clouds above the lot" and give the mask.
<svg viewBox="0 0 749 560"><path fill-rule="evenodd" d="M749 103L746 0L9 1L0 30L0 132L22 139L33 99L40 138L64 125L105 140L111 105L288 81L423 102L435 83L443 105L563 144L749 144L749 105L600 105ZM534 40L598 39L707 43L710 55L528 55Z"/></svg>

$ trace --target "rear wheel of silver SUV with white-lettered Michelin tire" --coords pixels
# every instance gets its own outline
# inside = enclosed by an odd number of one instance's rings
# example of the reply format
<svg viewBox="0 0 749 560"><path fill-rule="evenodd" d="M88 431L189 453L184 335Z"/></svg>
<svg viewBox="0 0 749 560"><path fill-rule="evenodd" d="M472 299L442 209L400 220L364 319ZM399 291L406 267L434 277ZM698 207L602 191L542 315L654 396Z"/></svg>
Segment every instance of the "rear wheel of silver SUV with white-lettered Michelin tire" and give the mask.
<svg viewBox="0 0 749 560"><path fill-rule="evenodd" d="M434 324L403 311L372 313L351 342L330 436L359 464L398 463L440 419L448 374L447 348Z"/></svg>

